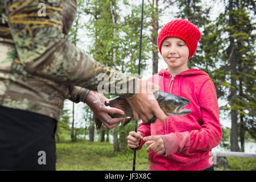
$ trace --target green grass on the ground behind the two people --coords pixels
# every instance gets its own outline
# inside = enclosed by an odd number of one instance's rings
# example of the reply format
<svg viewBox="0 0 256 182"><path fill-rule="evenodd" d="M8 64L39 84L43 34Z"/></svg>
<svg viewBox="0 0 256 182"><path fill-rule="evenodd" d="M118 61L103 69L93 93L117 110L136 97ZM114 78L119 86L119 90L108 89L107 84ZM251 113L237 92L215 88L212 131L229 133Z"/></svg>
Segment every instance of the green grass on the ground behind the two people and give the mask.
<svg viewBox="0 0 256 182"><path fill-rule="evenodd" d="M113 144L106 142L65 142L57 143L58 171L131 171L133 150L126 148L113 151ZM149 162L146 146L136 154L136 170L148 171ZM227 158L228 171L256 171L256 159ZM214 167L215 171L224 168Z"/></svg>

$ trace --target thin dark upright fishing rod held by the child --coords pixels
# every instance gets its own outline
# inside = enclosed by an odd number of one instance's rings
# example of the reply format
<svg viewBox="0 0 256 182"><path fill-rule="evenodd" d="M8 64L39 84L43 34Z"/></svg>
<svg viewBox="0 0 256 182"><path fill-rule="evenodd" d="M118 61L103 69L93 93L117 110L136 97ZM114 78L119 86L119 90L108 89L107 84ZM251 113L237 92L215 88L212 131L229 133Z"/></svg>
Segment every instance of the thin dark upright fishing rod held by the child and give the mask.
<svg viewBox="0 0 256 182"><path fill-rule="evenodd" d="M139 69L138 69L138 78L141 77L141 48L142 48L142 28L143 28L143 8L144 0L142 0L142 10L141 10L141 38L139 40ZM137 133L138 120L135 120L135 132ZM133 149L133 171L135 171L136 164L136 148Z"/></svg>

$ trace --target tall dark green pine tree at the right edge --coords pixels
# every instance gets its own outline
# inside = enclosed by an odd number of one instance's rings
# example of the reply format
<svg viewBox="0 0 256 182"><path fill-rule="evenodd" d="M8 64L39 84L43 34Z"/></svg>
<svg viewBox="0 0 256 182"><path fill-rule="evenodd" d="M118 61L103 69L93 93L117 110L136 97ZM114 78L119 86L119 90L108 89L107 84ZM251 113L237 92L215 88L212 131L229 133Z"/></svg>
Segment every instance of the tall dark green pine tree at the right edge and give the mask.
<svg viewBox="0 0 256 182"><path fill-rule="evenodd" d="M214 45L220 61L214 71L218 97L229 101L232 128L230 150L240 151L238 131L243 148L245 131L255 131L255 24L249 14L251 1L224 2L225 12L215 22ZM216 60L216 59L215 59ZM219 73L217 75L216 73ZM240 122L240 123L238 123Z"/></svg>

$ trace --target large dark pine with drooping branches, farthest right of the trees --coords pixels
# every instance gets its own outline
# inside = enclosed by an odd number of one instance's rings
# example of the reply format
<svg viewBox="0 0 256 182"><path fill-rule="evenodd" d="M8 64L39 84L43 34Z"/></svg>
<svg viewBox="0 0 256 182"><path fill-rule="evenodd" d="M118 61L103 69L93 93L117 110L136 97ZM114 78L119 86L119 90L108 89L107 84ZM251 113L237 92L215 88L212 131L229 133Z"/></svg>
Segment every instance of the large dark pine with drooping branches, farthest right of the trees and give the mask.
<svg viewBox="0 0 256 182"><path fill-rule="evenodd" d="M229 0L226 11L220 16L223 31L227 33L224 41L227 43L222 60L228 61L228 67L222 67L230 80L229 96L232 128L230 131L230 150L240 151L238 146L238 130L240 129L242 145L245 134L245 123L255 118L255 24L249 15L247 7L251 1ZM238 122L240 121L240 125ZM254 119L255 121L255 119ZM242 146L243 148L243 146Z"/></svg>

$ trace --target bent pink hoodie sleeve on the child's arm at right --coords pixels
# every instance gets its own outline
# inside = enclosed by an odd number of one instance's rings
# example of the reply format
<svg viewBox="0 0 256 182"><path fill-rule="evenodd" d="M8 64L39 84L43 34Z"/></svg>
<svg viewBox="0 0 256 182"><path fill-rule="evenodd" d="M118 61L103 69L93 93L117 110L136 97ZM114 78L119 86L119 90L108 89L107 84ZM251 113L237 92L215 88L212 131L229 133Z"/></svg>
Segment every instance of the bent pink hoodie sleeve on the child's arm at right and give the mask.
<svg viewBox="0 0 256 182"><path fill-rule="evenodd" d="M201 129L161 135L166 147L165 156L190 150L208 151L220 143L222 130L216 89L211 80L207 80L202 85L198 98L203 121Z"/></svg>

